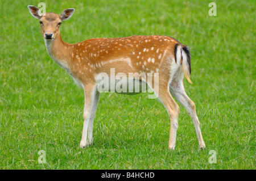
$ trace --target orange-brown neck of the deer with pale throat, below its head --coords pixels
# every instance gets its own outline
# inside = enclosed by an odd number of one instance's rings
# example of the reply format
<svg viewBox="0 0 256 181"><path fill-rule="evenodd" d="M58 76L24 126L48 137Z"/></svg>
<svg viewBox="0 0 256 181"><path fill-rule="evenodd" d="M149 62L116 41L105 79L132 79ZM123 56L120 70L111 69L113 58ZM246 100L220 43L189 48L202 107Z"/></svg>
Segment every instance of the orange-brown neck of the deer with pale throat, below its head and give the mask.
<svg viewBox="0 0 256 181"><path fill-rule="evenodd" d="M46 44L47 52L52 60L71 74L69 65L71 62L73 45L65 43L60 35L53 40L44 39L44 43Z"/></svg>

